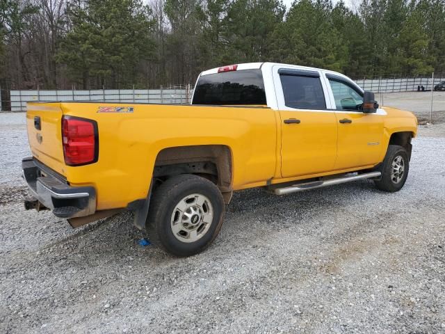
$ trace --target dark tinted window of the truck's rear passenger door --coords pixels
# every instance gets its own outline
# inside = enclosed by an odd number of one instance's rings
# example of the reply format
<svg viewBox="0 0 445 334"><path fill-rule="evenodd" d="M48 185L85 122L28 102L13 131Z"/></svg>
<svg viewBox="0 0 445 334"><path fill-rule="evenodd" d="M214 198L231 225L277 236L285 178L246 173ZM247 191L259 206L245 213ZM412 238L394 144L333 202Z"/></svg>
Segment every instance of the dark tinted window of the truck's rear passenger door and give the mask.
<svg viewBox="0 0 445 334"><path fill-rule="evenodd" d="M286 106L297 109L326 109L320 77L280 74Z"/></svg>

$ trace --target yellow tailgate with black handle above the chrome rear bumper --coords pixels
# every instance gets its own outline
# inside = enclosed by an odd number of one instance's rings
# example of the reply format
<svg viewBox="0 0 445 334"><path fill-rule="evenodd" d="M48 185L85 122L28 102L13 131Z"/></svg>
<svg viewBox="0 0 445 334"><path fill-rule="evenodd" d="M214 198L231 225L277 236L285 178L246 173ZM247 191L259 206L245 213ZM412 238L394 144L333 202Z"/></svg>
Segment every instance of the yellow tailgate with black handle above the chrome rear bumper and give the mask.
<svg viewBox="0 0 445 334"><path fill-rule="evenodd" d="M65 176L60 103L30 102L27 109L26 128L33 157Z"/></svg>

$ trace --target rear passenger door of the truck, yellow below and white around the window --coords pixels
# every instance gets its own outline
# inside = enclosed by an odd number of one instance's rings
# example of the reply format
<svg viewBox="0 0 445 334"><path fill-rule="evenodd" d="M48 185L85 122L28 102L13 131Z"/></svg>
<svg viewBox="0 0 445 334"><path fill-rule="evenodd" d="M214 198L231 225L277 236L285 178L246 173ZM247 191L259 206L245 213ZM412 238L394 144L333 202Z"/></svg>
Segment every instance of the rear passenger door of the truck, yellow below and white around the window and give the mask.
<svg viewBox="0 0 445 334"><path fill-rule="evenodd" d="M323 173L337 157L337 120L318 70L273 68L281 122L282 177Z"/></svg>

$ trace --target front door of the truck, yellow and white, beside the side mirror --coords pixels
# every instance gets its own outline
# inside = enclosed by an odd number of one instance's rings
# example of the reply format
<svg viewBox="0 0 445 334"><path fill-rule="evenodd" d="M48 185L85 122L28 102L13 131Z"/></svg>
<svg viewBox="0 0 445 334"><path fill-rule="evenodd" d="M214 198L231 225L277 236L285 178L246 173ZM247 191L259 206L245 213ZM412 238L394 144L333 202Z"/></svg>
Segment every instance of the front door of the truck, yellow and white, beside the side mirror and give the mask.
<svg viewBox="0 0 445 334"><path fill-rule="evenodd" d="M347 169L378 164L382 153L383 117L363 113L362 90L350 79L326 74L338 127L337 161L335 169Z"/></svg>

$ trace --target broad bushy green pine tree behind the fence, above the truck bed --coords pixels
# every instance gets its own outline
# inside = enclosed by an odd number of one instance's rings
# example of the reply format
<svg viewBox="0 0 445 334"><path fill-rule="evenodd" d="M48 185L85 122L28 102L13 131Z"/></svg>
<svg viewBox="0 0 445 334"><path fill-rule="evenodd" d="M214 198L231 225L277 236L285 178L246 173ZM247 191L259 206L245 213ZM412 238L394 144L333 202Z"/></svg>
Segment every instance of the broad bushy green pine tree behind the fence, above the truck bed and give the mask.
<svg viewBox="0 0 445 334"><path fill-rule="evenodd" d="M70 31L60 43L58 62L84 88L90 78L112 87L133 84L140 61L152 58L154 22L140 0L95 0L71 3ZM97 85L99 86L99 85Z"/></svg>

